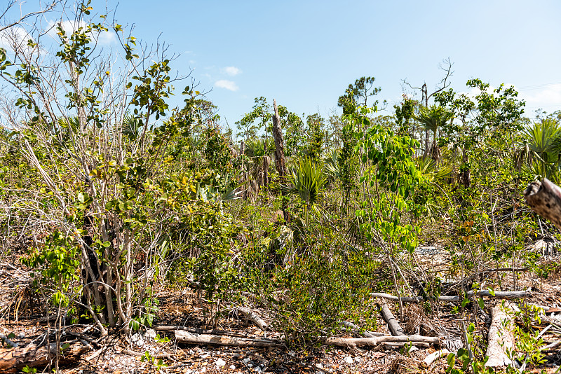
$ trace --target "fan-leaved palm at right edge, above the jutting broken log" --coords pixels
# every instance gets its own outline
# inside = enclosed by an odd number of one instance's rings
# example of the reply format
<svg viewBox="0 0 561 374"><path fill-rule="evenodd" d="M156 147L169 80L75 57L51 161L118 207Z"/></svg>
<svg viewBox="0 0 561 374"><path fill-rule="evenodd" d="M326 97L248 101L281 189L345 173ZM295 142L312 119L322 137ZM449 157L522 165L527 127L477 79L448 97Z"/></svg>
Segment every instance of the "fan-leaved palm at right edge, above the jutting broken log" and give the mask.
<svg viewBox="0 0 561 374"><path fill-rule="evenodd" d="M561 154L561 127L548 118L534 123L522 131L516 164L525 164L543 177L557 181Z"/></svg>

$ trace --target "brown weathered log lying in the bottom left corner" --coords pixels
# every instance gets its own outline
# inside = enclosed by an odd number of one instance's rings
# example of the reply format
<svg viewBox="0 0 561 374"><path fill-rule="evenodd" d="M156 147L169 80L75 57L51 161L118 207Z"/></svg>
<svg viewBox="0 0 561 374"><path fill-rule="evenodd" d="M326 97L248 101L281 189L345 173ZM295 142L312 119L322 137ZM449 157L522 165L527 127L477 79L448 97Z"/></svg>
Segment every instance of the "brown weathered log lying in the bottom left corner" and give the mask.
<svg viewBox="0 0 561 374"><path fill-rule="evenodd" d="M69 344L66 349L62 349L61 363L77 361L81 354L91 349L90 345L83 344L83 342L74 341ZM25 366L48 366L49 363L53 363L56 352L55 343L43 347L30 344L25 347L0 349L0 373L17 373Z"/></svg>

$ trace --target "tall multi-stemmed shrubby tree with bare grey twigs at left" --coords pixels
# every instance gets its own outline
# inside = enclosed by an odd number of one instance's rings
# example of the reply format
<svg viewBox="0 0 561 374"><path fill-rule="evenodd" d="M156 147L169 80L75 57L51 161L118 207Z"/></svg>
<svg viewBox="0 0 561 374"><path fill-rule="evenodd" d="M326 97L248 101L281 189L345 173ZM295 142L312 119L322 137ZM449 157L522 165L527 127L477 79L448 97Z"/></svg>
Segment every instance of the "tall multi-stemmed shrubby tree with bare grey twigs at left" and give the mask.
<svg viewBox="0 0 561 374"><path fill-rule="evenodd" d="M189 244L204 254L201 269L217 258L226 261L224 243L233 226L222 226L219 205L201 200L217 172L168 173L169 145L199 120L198 92L185 88L185 107L170 111L174 78L165 48L140 57L133 36L91 12L90 1L83 1L74 29L59 23L56 53L46 53L41 32L16 45L13 61L3 50L0 78L11 87L3 92L4 118L40 183L13 188L11 209L27 209L25 230L43 222L55 228L27 264L55 290L55 307L78 305L107 334L108 326L128 331L151 324L157 307L151 283L165 256L167 225L192 229L202 224L198 217L212 216L205 235L193 233L197 240ZM96 43L109 27L119 36L121 59ZM37 203L25 207L24 201ZM197 277L210 296L220 271Z"/></svg>

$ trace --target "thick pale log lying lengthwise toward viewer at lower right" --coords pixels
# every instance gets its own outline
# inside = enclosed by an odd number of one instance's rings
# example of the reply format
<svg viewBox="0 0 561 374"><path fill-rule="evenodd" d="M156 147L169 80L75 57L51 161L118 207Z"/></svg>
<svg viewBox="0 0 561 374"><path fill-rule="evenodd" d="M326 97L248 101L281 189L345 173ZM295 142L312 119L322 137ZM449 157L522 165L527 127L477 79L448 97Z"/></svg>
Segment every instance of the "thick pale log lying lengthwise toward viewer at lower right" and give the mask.
<svg viewBox="0 0 561 374"><path fill-rule="evenodd" d="M511 309L511 306L506 303L504 309ZM487 338L487 356L489 360L485 366L493 368L508 366L513 363L506 354L507 349L514 347L513 335L513 316L511 313L506 312L501 304L496 305L491 310L492 321L489 327L489 336Z"/></svg>

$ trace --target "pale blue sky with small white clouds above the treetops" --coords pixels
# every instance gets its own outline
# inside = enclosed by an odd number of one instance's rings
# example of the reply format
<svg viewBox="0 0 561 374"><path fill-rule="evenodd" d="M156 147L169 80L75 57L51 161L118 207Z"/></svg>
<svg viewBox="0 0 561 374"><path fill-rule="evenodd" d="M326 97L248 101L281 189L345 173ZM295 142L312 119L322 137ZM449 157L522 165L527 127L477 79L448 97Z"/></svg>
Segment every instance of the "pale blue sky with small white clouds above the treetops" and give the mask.
<svg viewBox="0 0 561 374"><path fill-rule="evenodd" d="M94 1L103 11L104 1ZM158 39L192 70L235 131L253 99L298 114L338 110L349 83L374 76L393 104L402 81L434 88L454 63L452 87L469 78L513 84L527 116L561 109L561 1L147 1L108 2L121 25ZM54 15L51 16L54 18ZM187 83L187 82L186 82ZM180 85L176 85L178 93ZM180 105L176 97L173 104Z"/></svg>

